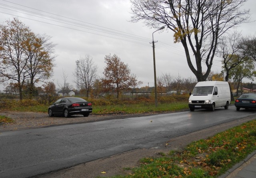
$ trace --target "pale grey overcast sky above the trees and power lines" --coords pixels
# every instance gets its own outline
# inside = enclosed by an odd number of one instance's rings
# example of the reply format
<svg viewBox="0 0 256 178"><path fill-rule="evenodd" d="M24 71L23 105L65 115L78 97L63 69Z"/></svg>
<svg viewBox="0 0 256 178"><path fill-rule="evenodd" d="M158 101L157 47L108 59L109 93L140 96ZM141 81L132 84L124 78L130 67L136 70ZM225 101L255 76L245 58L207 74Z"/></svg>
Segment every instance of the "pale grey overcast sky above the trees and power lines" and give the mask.
<svg viewBox="0 0 256 178"><path fill-rule="evenodd" d="M256 20L256 1L248 0L251 20ZM104 57L116 54L128 64L133 74L142 81L141 86L154 86L152 32L143 22L132 23L130 0L0 0L0 23L19 18L34 33L52 36L56 43L54 74L49 81L63 82L62 70L74 84L76 60L89 54L102 76ZM54 20L60 19L60 20ZM58 22L57 22L58 21ZM256 22L243 24L238 30L244 36L256 34ZM114 35L115 34L115 35ZM173 33L167 29L154 33L156 45L156 75L195 78L186 62L180 43L173 43ZM194 58L193 58L194 60ZM214 59L213 72L221 71L219 58ZM1 84L0 90L3 90Z"/></svg>

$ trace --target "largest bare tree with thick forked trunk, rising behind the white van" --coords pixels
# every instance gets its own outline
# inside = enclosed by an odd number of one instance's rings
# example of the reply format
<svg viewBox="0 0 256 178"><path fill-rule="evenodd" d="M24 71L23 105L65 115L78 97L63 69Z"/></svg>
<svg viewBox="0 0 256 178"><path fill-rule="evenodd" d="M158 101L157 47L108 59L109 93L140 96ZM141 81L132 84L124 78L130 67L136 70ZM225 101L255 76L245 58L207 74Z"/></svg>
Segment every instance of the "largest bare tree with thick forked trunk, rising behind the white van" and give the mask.
<svg viewBox="0 0 256 178"><path fill-rule="evenodd" d="M250 20L249 10L240 10L247 0L130 1L132 22L144 20L150 28L167 26L174 32L174 42L182 43L188 66L198 81L205 81L211 71L218 39ZM202 71L202 63L206 72Z"/></svg>

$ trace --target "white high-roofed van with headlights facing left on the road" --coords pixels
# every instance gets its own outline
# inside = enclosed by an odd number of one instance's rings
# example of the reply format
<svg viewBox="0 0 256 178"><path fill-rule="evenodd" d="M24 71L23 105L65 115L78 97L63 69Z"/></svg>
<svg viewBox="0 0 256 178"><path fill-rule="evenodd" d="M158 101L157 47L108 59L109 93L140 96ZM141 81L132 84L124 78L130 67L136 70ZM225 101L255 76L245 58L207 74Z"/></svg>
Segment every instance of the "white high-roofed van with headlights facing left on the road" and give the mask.
<svg viewBox="0 0 256 178"><path fill-rule="evenodd" d="M214 111L215 108L222 106L228 109L230 102L231 96L228 82L205 81L198 82L193 92L190 92L188 106L190 111L200 108Z"/></svg>

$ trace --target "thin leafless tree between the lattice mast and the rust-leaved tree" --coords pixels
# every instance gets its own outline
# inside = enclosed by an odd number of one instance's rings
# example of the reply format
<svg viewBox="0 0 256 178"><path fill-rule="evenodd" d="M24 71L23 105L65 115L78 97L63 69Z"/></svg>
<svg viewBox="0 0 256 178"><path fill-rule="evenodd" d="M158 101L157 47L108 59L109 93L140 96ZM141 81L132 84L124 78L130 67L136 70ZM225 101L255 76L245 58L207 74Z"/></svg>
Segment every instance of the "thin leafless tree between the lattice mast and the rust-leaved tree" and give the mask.
<svg viewBox="0 0 256 178"><path fill-rule="evenodd" d="M86 91L86 97L89 97L89 92L92 90L95 80L97 79L97 65L94 65L92 57L90 55L85 55L80 57L78 60L78 73L74 74L78 77L76 80L76 85Z"/></svg>

